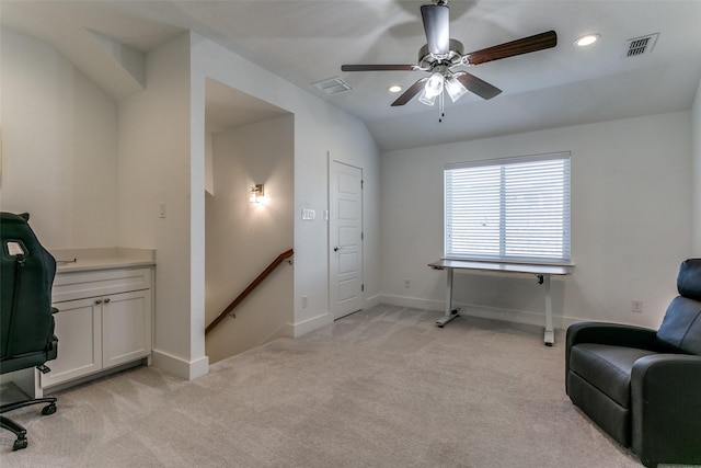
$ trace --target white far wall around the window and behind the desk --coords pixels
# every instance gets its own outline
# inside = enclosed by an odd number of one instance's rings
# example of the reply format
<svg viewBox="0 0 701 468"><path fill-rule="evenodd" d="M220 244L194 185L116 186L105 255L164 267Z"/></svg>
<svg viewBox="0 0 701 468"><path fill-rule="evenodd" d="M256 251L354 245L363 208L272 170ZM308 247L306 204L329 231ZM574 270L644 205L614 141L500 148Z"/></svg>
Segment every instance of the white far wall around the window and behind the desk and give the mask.
<svg viewBox="0 0 701 468"><path fill-rule="evenodd" d="M382 300L443 310L446 162L572 151L574 273L553 279L562 327L578 319L657 327L691 254L691 115L653 115L382 155ZM404 279L412 287L404 288ZM643 313L631 301L643 301ZM453 300L470 311L543 323L530 276L456 275ZM495 309L493 309L495 308ZM518 311L518 312L514 312ZM526 313L522 313L526 312Z"/></svg>

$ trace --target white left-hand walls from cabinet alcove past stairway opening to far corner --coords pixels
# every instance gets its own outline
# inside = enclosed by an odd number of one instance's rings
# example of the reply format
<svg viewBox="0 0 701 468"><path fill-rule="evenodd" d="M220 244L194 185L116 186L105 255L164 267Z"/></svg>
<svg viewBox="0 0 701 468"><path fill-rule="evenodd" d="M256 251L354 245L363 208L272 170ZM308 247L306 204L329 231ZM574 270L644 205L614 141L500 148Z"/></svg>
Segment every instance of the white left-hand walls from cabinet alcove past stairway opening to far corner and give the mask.
<svg viewBox="0 0 701 468"><path fill-rule="evenodd" d="M147 89L119 103L51 47L2 31L2 209L32 213L58 248L157 250L153 362L207 373L205 355L205 80L295 115L292 214L327 209L327 159L364 168L379 197L379 150L365 125L194 33L150 52ZM159 207L166 205L166 217ZM368 304L379 293L379 210L366 204ZM327 226L294 220L294 317L288 334L331 321ZM309 307L301 307L301 296Z"/></svg>

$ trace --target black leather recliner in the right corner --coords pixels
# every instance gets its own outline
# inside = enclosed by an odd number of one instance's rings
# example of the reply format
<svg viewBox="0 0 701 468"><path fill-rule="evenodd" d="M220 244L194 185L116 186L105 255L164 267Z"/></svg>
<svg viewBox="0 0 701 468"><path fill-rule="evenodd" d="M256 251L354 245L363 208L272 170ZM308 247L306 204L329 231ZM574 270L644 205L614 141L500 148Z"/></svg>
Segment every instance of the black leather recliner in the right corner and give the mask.
<svg viewBox="0 0 701 468"><path fill-rule="evenodd" d="M681 263L677 289L657 331L567 329L570 399L646 467L701 464L701 259Z"/></svg>

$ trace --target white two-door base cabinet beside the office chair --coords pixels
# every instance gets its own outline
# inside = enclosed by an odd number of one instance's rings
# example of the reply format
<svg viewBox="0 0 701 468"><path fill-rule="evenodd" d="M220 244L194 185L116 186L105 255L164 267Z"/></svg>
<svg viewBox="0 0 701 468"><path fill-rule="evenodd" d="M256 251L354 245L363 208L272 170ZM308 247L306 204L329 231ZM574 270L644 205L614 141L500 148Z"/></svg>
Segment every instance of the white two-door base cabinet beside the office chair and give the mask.
<svg viewBox="0 0 701 468"><path fill-rule="evenodd" d="M58 357L42 389L151 356L152 269L59 273L53 303Z"/></svg>

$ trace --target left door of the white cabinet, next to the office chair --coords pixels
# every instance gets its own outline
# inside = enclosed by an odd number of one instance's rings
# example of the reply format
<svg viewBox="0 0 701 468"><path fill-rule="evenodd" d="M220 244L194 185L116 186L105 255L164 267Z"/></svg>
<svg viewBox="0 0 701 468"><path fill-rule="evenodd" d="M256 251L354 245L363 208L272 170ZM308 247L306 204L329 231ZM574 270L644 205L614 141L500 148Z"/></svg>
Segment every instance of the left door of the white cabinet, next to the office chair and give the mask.
<svg viewBox="0 0 701 468"><path fill-rule="evenodd" d="M58 356L46 365L42 387L92 374L102 368L102 316L100 298L54 304Z"/></svg>

